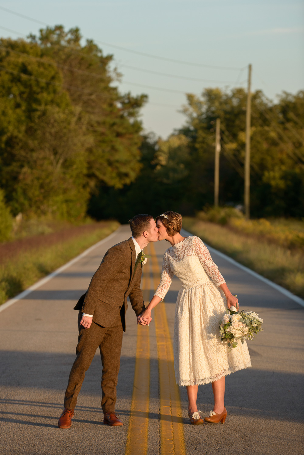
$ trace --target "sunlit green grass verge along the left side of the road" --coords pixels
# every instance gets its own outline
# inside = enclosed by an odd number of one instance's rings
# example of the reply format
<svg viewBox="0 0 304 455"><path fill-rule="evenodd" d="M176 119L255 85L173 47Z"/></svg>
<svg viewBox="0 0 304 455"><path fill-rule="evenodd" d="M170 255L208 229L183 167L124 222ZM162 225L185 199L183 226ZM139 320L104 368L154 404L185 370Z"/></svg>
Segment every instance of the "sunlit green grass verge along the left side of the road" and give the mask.
<svg viewBox="0 0 304 455"><path fill-rule="evenodd" d="M33 242L19 251L10 248L14 247L13 243L5 244L3 247L9 247L6 250L11 254L6 253L0 263L0 304L105 238L118 226L118 222L109 221L91 224L85 230L79 226L78 232L74 227L69 235L57 233L57 238L46 234L43 241L39 238L36 242L38 246L35 246L35 238L31 238Z"/></svg>

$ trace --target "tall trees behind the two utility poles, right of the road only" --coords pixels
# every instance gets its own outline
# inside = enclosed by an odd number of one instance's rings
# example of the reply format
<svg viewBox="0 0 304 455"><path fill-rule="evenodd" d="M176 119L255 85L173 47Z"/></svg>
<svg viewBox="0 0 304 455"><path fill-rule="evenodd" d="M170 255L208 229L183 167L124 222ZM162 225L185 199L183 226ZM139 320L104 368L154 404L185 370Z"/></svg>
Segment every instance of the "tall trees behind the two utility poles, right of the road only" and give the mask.
<svg viewBox="0 0 304 455"><path fill-rule="evenodd" d="M202 97L189 94L184 107L191 139L191 188L197 206L213 203L215 121L221 120L220 201L243 201L246 92L206 89ZM303 216L304 91L286 92L279 103L261 91L252 96L251 212L253 216ZM196 188L196 190L195 190ZM202 203L203 202L203 203Z"/></svg>

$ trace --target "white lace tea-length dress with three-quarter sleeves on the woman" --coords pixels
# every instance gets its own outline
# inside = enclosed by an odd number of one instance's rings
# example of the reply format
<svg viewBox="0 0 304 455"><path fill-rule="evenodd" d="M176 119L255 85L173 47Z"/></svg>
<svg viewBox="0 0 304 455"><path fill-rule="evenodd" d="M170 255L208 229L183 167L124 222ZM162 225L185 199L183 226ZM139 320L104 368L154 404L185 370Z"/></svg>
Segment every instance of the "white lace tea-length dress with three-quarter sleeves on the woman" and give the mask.
<svg viewBox="0 0 304 455"><path fill-rule="evenodd" d="M225 280L200 238L186 237L167 249L154 295L165 297L173 274L182 282L173 339L177 384L208 384L251 367L246 342L238 343L229 353L219 338L218 321L225 313L227 302L218 286Z"/></svg>

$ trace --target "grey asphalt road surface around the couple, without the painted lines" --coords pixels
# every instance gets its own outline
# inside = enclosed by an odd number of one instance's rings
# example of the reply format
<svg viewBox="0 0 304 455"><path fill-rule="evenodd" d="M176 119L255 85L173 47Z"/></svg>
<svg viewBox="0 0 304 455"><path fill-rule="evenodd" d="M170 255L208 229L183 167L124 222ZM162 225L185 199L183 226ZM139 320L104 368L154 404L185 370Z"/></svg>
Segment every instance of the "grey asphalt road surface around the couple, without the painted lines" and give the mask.
<svg viewBox="0 0 304 455"><path fill-rule="evenodd" d="M72 308L86 291L108 248L129 238L129 227L0 313L0 454L124 454L128 437L137 347L136 317L127 311L117 412L124 425L102 424L101 360L98 353L86 373L72 427L60 430L64 392L77 344L77 312ZM157 259L167 242L154 244ZM252 369L226 378L225 425L189 425L187 394L180 388L187 455L304 454L303 347L304 308L216 253L213 260L242 308L264 319L264 332L248 342ZM151 282L152 283L152 282ZM150 285L152 294L152 284ZM166 297L173 334L180 283L173 279ZM153 315L152 315L153 316ZM145 329L145 328L143 328ZM155 324L150 332L150 404L148 455L160 453L159 384ZM198 389L198 409L212 409L211 385ZM167 454L165 454L167 455Z"/></svg>

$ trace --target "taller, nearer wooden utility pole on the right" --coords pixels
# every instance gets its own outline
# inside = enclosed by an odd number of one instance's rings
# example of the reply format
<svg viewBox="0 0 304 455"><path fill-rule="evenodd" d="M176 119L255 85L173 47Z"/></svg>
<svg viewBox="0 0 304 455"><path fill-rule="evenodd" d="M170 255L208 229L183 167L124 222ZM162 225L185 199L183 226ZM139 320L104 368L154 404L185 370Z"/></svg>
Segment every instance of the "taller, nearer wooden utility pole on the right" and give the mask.
<svg viewBox="0 0 304 455"><path fill-rule="evenodd" d="M246 106L246 148L245 148L245 181L244 205L245 217L250 218L250 129L251 129L251 64L248 65L248 91Z"/></svg>

